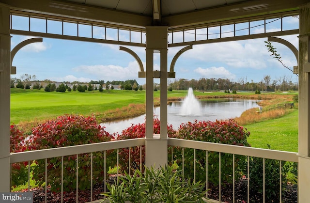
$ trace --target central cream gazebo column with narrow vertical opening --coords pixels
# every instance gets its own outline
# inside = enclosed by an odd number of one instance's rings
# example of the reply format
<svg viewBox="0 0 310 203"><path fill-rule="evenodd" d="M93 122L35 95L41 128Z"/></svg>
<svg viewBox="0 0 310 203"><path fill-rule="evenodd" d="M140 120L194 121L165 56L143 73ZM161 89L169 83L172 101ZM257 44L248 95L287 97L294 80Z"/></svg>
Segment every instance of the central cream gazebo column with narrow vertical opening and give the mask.
<svg viewBox="0 0 310 203"><path fill-rule="evenodd" d="M168 162L167 49L168 27L146 27L146 136L145 165L159 168ZM160 136L153 135L153 53L160 51Z"/></svg>

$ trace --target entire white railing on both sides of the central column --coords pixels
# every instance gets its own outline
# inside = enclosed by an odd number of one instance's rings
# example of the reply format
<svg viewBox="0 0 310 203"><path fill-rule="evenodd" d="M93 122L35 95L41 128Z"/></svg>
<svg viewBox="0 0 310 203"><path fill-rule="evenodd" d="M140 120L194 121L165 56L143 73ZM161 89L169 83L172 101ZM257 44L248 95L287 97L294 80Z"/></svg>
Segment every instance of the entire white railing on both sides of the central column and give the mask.
<svg viewBox="0 0 310 203"><path fill-rule="evenodd" d="M53 157L62 157L62 164L63 164L63 157L64 156L71 156L76 155L77 156L77 170L76 170L76 178L77 178L77 189L76 189L76 202L78 202L78 155L85 154L85 153L93 153L93 152L103 152L104 153L104 162L106 163L106 151L108 150L116 150L118 152L118 149L122 148L130 148L130 147L136 147L136 146L143 146L145 145L145 139L139 138L139 139L131 139L131 140L123 140L123 141L109 141L109 142L101 142L101 143L93 143L93 144L85 144L85 145L77 145L77 146L70 146L70 147L60 147L60 148L53 148L53 149L44 149L44 150L36 150L36 151L28 151L28 152L20 152L20 153L12 153L11 154L11 163L18 163L18 162L29 162L30 163L33 160L39 160L39 159L45 159L46 162L46 172L45 172L45 181L47 183L47 159L53 158ZM196 172L196 150L204 150L206 151L206 158L208 157L208 152L218 152L219 153L219 200L221 201L221 170L220 170L220 153L227 153L233 155L233 170L234 170L234 157L235 155L242 155L247 157L248 162L248 174L247 177L249 177L249 157L260 157L263 158L263 202L265 199L265 171L264 171L264 163L265 159L275 159L280 161L280 186L279 191L281 194L281 161L289 161L289 162L297 162L298 163L298 156L297 153L292 152L283 152L283 151L276 151L276 150L267 150L267 149L258 149L258 148L252 148L252 147L242 147L242 146L235 146L235 145L227 145L227 144L218 144L218 143L210 143L210 142L203 142L203 141L190 141L190 140L181 140L181 139L173 139L169 138L168 145L175 146L175 147L181 147L183 150L182 155L182 162L184 167L184 148L192 148L194 149L194 181L195 181L195 172ZM140 148L141 149L141 148ZM130 152L130 150L129 150ZM173 151L172 151L173 153ZM140 150L140 161L141 161L141 150ZM130 157L130 154L129 154ZM118 164L118 153L117 157L117 166ZM93 169L93 159L91 159L91 171ZM207 164L206 164L207 165ZM140 162L141 167L141 162ZM207 170L208 166L206 166ZM129 158L129 169L130 169L130 158ZM62 171L63 171L63 165L62 165ZM106 177L106 164L104 164L104 176ZM184 172L184 168L183 168ZM118 173L118 170L117 170ZM129 170L130 173L130 170ZM117 174L118 175L118 174ZM93 177L93 173L91 172L91 177ZM30 167L28 170L28 187L30 189ZM208 172L206 172L206 180L208 179ZM63 172L62 172L62 181L63 181ZM247 178L248 181L248 201L249 202L249 178ZM208 182L208 181L207 181ZM106 183L106 179L104 180L104 183ZM234 201L234 183L235 183L235 177L234 177L234 171L233 171L233 202ZM61 184L62 185L62 184ZM208 184L206 183L206 187L208 187ZM106 189L106 187L105 187ZM275 186L276 189L276 186ZM63 188L61 189L61 192L63 193ZM91 201L93 201L93 184L91 182ZM207 197L206 193L206 197ZM281 195L280 195L281 200ZM45 202L47 202L47 185L45 186ZM61 202L63 202L63 198L61 196Z"/></svg>

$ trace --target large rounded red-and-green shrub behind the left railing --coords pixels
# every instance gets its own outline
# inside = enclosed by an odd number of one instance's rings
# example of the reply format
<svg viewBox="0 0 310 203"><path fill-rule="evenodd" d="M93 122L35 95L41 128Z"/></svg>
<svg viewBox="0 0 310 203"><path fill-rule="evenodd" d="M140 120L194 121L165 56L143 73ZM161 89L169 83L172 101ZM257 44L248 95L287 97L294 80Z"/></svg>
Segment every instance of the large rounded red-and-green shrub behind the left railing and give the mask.
<svg viewBox="0 0 310 203"><path fill-rule="evenodd" d="M31 150L54 147L73 146L114 140L114 136L96 123L94 116L64 115L56 120L47 121L32 130ZM107 166L114 166L112 151L107 152ZM109 155L109 156L108 156ZM63 190L76 189L77 156L63 157ZM62 174L62 159L54 157L47 159L47 184L52 191L60 191ZM36 160L33 167L33 179L42 185L45 182L45 160ZM104 153L93 153L93 184L104 179ZM91 154L78 155L78 188L89 189L91 186Z"/></svg>

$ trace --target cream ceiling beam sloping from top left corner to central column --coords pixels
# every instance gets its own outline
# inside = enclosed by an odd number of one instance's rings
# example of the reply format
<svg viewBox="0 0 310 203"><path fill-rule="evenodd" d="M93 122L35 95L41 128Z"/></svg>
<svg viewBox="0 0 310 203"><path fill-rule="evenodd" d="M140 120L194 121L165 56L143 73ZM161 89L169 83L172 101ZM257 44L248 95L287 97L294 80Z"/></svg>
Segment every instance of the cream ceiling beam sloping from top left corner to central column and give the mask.
<svg viewBox="0 0 310 203"><path fill-rule="evenodd" d="M131 25L137 28L151 26L153 22L153 16L143 16L65 1L40 0L38 3L37 0L0 0L0 2L12 6L11 9L17 11L74 17L116 25Z"/></svg>

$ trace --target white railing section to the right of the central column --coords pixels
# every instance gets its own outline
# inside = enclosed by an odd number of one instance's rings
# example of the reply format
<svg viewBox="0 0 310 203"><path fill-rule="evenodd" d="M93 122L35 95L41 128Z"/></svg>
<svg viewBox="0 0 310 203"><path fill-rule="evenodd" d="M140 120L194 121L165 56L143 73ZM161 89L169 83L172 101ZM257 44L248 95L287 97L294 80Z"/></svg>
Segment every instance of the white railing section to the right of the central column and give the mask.
<svg viewBox="0 0 310 203"><path fill-rule="evenodd" d="M190 141L190 140L182 140L182 139L175 139L169 138L168 144L171 146L182 147L182 165L183 165L183 172L184 172L184 148L191 148L194 149L193 153L193 173L194 173L194 181L195 181L195 172L196 172L196 150L204 150L206 151L206 162L208 162L208 152L218 152L219 153L219 184L218 184L218 198L219 202L221 202L221 153L227 153L233 155L233 203L235 202L235 155L241 155L247 157L247 202L249 202L249 186L250 186L250 174L249 174L249 157L258 157L263 158L263 203L265 202L265 160L266 159L274 159L279 160L279 200L282 200L282 161L289 161L289 162L296 162L298 163L298 156L297 153L293 152L284 152L284 151L277 151L277 150L268 150L268 149L260 149L260 148L253 148L253 147L244 147L244 146L235 146L235 145L228 145L228 144L218 144L218 143L211 143L211 142L204 142L204 141ZM173 153L173 152L172 152ZM173 157L173 156L172 156ZM208 187L208 165L206 164L206 188ZM276 190L277 186L274 187ZM206 193L207 197L208 193Z"/></svg>

